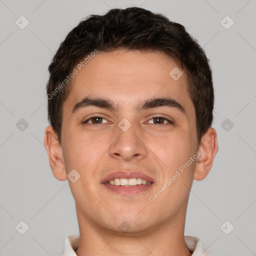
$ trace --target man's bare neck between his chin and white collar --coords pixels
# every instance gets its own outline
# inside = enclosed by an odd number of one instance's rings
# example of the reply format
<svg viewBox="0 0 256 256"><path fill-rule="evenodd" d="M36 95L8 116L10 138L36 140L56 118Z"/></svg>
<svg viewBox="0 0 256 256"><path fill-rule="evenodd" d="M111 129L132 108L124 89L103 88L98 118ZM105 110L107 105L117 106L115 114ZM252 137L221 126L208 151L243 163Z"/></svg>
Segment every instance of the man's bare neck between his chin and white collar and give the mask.
<svg viewBox="0 0 256 256"><path fill-rule="evenodd" d="M150 227L143 233L120 233L104 229L88 221L78 208L76 211L80 233L79 246L75 250L77 256L192 254L184 241L185 210L182 216L177 214L175 219Z"/></svg>

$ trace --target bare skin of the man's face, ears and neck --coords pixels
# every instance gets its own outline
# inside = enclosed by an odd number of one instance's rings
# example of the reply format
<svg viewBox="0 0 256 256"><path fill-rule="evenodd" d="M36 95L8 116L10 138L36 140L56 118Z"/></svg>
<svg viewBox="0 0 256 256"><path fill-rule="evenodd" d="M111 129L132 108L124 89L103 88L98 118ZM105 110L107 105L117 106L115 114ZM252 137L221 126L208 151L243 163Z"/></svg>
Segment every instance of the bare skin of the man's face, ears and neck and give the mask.
<svg viewBox="0 0 256 256"><path fill-rule="evenodd" d="M44 145L53 175L66 180L72 169L80 174L74 183L68 179L80 232L78 256L192 254L184 241L189 191L193 179L202 180L209 172L217 139L215 129L210 127L198 145L185 72L182 70L178 80L169 75L175 66L161 52L99 52L72 79L63 106L61 144L52 126L46 127ZM73 106L84 96L110 98L119 109L88 106L72 114ZM185 113L168 106L134 109L141 100L162 96L176 100ZM101 124L82 124L92 114L103 117L96 120ZM164 115L174 124L166 120L157 124L157 118L153 118L157 115ZM123 118L131 123L127 131L117 125ZM201 155L197 161L150 202L149 196L198 149ZM136 195L115 194L100 182L118 169L140 171L152 177L154 183ZM127 232L118 228L123 221L130 227Z"/></svg>

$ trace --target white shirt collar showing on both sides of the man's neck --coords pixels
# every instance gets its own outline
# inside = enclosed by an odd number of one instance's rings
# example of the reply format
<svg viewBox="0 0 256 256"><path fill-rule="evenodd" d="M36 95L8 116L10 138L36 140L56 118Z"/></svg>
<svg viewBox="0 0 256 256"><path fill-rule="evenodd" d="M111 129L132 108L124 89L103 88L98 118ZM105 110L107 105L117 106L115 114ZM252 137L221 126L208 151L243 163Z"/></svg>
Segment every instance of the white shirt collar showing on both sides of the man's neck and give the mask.
<svg viewBox="0 0 256 256"><path fill-rule="evenodd" d="M184 236L185 244L190 251L193 251L191 256L212 256L209 252L203 249L199 238L193 236ZM78 248L80 234L70 234L65 238L64 254L59 256L77 256L75 250Z"/></svg>

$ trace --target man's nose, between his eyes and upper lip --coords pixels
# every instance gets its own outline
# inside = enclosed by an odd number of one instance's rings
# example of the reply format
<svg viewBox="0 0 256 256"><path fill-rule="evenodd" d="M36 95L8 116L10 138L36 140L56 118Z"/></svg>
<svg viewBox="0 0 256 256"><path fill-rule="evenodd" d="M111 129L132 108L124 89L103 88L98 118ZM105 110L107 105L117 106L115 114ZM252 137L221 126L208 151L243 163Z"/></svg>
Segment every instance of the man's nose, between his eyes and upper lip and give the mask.
<svg viewBox="0 0 256 256"><path fill-rule="evenodd" d="M147 156L148 150L142 132L132 124L127 130L115 127L116 135L109 146L109 154L116 159L130 161L142 159Z"/></svg>

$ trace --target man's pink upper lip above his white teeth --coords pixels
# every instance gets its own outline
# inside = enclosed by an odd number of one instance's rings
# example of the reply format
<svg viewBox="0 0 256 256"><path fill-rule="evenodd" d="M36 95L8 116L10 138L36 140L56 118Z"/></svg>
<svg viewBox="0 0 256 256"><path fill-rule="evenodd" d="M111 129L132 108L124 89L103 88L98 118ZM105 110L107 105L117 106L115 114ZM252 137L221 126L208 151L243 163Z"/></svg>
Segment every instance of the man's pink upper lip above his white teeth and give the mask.
<svg viewBox="0 0 256 256"><path fill-rule="evenodd" d="M141 172L138 171L133 171L133 170L129 170L129 171L114 171L111 172L110 174L106 175L101 183L105 183L110 181L111 179L115 179L115 178L142 178L145 179L147 182L154 182L153 179Z"/></svg>

